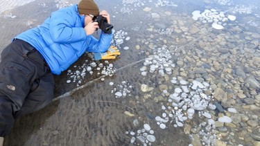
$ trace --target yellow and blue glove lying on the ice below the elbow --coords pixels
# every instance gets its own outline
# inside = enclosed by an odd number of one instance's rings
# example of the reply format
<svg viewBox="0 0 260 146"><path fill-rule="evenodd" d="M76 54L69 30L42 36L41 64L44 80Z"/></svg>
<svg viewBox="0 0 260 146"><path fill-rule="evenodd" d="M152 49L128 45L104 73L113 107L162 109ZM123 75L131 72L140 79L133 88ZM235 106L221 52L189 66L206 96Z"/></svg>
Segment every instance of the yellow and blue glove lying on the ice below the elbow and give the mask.
<svg viewBox="0 0 260 146"><path fill-rule="evenodd" d="M106 53L94 53L94 60L113 60L117 55L120 55L119 49L110 46Z"/></svg>

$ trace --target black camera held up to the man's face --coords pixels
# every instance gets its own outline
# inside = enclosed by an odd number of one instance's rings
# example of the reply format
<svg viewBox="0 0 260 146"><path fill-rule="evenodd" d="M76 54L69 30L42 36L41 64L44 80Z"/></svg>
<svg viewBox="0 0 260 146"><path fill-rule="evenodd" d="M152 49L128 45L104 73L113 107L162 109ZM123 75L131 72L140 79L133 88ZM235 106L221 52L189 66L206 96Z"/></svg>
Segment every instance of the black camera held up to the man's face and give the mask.
<svg viewBox="0 0 260 146"><path fill-rule="evenodd" d="M103 30L104 33L111 34L112 33L112 26L111 24L107 24L107 19L102 15L98 15L97 17L93 18L93 21L98 22L99 28Z"/></svg>

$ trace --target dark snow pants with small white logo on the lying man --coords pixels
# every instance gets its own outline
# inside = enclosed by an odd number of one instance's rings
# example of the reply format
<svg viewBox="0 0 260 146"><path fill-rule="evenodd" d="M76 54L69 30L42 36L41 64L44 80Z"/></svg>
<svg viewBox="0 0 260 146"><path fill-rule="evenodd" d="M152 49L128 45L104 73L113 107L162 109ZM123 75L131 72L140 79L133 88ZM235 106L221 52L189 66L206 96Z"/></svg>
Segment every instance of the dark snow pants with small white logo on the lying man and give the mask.
<svg viewBox="0 0 260 146"><path fill-rule="evenodd" d="M1 53L0 136L10 132L15 118L42 109L53 99L53 75L33 46L15 39Z"/></svg>

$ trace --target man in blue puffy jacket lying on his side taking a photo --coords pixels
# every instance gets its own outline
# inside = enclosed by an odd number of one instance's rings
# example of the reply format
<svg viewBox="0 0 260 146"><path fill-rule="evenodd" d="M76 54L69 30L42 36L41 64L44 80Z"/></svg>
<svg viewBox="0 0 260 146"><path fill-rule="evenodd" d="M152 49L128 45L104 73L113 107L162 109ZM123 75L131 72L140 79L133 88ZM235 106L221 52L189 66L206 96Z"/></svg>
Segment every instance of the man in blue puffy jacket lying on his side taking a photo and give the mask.
<svg viewBox="0 0 260 146"><path fill-rule="evenodd" d="M42 109L53 99L53 74L59 75L85 53L103 53L112 40L102 31L100 39L92 36L98 27L93 21L102 15L94 0L62 8L41 26L17 35L1 53L0 62L0 145L15 118Z"/></svg>

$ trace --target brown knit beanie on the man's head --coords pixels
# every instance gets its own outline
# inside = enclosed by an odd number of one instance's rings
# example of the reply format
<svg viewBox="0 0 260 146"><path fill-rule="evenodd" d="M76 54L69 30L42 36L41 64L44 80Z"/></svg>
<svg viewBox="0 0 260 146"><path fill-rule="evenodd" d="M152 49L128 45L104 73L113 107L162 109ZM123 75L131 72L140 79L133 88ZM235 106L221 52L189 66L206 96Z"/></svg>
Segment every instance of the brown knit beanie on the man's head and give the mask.
<svg viewBox="0 0 260 146"><path fill-rule="evenodd" d="M94 0L81 0L78 3L78 12L80 15L99 15L99 9Z"/></svg>

